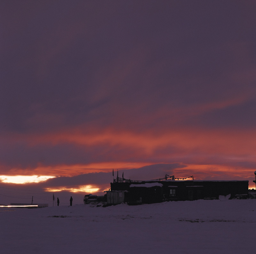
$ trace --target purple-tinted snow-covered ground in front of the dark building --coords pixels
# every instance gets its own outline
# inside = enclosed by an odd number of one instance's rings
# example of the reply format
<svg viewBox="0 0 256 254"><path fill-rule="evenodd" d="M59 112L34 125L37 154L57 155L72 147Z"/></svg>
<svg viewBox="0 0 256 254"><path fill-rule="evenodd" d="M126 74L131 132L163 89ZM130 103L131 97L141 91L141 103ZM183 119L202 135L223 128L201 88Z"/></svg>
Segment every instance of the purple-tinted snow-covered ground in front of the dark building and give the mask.
<svg viewBox="0 0 256 254"><path fill-rule="evenodd" d="M1 253L255 253L256 199L1 208ZM10 211L12 210L12 211Z"/></svg>

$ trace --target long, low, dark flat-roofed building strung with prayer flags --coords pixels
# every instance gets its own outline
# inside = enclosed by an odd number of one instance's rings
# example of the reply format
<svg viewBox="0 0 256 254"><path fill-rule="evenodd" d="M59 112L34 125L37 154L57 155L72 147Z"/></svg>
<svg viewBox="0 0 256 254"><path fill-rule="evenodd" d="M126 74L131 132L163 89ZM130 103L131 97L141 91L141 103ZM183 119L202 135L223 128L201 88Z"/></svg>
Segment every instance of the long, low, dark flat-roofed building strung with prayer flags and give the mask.
<svg viewBox="0 0 256 254"><path fill-rule="evenodd" d="M162 201L218 199L220 195L227 196L228 194L230 194L230 198L237 196L246 198L248 197L249 181L174 180L174 176L169 179L165 177L159 180L132 181L118 177L110 185L111 190L106 191L109 197L111 195L108 192L122 191L123 202L150 204ZM115 194L113 195L115 196Z"/></svg>

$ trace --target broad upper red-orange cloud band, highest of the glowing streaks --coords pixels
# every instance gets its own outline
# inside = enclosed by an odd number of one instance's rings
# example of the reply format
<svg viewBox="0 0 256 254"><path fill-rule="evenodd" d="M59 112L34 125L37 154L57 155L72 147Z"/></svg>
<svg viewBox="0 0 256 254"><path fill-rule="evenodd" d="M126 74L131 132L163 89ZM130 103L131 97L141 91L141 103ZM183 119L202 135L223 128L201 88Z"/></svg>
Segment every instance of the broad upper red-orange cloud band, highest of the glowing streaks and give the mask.
<svg viewBox="0 0 256 254"><path fill-rule="evenodd" d="M31 146L38 144L76 144L83 146L120 146L141 149L141 153L152 155L156 149L173 146L188 153L197 149L204 153L218 153L224 156L239 156L255 159L253 156L256 144L252 137L255 130L200 130L179 129L156 134L150 131L135 133L131 131L81 131L78 129L48 133L44 135L28 135L19 137L27 140ZM252 156L252 157L251 157ZM251 157L251 158L250 158Z"/></svg>

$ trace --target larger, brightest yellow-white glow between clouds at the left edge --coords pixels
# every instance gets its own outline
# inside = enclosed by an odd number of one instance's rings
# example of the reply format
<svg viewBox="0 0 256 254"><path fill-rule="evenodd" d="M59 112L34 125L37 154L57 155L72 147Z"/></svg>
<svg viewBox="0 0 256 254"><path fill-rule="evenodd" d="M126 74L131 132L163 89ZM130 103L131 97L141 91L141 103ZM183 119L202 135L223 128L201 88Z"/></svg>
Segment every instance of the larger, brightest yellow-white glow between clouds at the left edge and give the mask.
<svg viewBox="0 0 256 254"><path fill-rule="evenodd" d="M0 176L2 183L39 183L55 176Z"/></svg>

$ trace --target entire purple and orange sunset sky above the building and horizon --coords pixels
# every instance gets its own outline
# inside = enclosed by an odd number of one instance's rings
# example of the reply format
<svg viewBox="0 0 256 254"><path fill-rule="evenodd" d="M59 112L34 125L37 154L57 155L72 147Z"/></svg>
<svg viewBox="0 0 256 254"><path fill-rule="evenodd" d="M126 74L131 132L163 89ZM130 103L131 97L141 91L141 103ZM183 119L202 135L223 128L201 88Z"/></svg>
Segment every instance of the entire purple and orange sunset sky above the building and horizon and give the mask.
<svg viewBox="0 0 256 254"><path fill-rule="evenodd" d="M255 188L255 11L249 0L1 1L0 191L100 193L113 169Z"/></svg>

